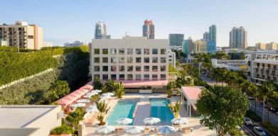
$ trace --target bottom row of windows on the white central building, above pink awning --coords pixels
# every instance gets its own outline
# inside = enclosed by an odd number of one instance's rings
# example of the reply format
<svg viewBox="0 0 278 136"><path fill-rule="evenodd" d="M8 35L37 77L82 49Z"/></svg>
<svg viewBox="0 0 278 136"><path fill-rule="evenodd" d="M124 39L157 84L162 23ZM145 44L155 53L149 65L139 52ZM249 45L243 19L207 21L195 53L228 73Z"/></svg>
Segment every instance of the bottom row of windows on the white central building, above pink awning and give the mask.
<svg viewBox="0 0 278 136"><path fill-rule="evenodd" d="M128 80L133 80L134 75L133 74L119 74L119 80L124 80L125 77L127 76ZM95 77L100 77L100 74L95 74ZM150 79L150 74L143 74L144 80L149 80ZM113 80L117 80L117 74L111 74L111 78ZM136 80L141 80L141 74L135 74L135 79ZM151 79L152 80L157 80L158 75L157 74L151 74ZM166 79L166 74L160 74L160 79L164 80ZM108 80L108 74L102 74L102 80Z"/></svg>

